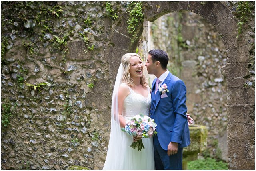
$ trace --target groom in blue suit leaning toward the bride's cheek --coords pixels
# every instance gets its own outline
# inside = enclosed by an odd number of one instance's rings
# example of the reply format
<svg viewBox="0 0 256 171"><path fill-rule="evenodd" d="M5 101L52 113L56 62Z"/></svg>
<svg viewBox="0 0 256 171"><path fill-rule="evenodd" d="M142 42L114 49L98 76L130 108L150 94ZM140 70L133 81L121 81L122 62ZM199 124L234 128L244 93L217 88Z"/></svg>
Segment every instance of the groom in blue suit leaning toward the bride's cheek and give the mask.
<svg viewBox="0 0 256 171"><path fill-rule="evenodd" d="M150 114L157 124L153 139L155 166L161 170L182 169L182 149L190 144L186 86L168 71L168 61L163 50L149 51L146 61L148 74L157 77L152 83Z"/></svg>

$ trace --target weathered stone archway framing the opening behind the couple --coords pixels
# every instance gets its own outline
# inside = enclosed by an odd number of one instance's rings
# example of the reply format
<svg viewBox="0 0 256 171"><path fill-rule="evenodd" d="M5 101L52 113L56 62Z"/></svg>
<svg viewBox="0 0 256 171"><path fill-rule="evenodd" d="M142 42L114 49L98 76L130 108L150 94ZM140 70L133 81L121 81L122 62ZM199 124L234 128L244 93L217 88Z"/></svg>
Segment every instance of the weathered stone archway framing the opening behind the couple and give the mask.
<svg viewBox="0 0 256 171"><path fill-rule="evenodd" d="M150 22L170 12L194 12L212 24L221 35L228 59L221 70L227 80L228 92L228 168L254 169L254 117L250 117L254 111L254 89L244 87L244 77L249 73L250 54L244 36L236 38L236 18L221 2L144 2L144 7L145 20ZM109 58L110 78L117 71L117 67L113 66L119 65L120 56L135 51L138 43L132 43L126 29L122 29L127 26L127 15L124 14L124 20L120 20L112 34L112 42L116 46L110 47L106 52L113 57ZM142 23L137 26L137 30L139 37L143 30Z"/></svg>

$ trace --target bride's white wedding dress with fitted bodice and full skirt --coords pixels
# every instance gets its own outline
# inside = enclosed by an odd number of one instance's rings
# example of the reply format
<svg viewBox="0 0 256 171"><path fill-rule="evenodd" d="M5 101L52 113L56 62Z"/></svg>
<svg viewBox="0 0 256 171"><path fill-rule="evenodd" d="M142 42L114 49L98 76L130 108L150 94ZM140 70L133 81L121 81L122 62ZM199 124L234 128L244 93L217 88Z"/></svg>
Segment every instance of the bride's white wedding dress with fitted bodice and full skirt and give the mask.
<svg viewBox="0 0 256 171"><path fill-rule="evenodd" d="M130 94L124 99L124 108L122 113L124 119L127 121L137 114L149 115L151 103L149 88L147 97L134 92L130 87L129 90ZM114 156L113 153L108 151L103 169L155 169L153 138L142 138L142 142L145 148L141 151L138 151L138 149L132 149L132 147L130 147L133 142L133 137L131 135L128 135L125 132L121 132L120 137L122 140L120 143L122 143L122 145L117 145L120 149L116 149ZM115 163L116 161L113 160L118 160L120 163Z"/></svg>

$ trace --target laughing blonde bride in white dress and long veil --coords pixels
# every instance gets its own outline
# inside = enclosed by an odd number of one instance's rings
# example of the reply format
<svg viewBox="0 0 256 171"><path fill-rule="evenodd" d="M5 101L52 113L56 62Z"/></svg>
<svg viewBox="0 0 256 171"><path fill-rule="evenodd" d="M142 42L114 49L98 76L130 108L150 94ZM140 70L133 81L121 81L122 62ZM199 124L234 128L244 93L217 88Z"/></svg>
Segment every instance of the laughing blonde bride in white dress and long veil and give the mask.
<svg viewBox="0 0 256 171"><path fill-rule="evenodd" d="M121 131L133 116L149 116L151 90L143 74L144 68L136 53L126 53L121 59L112 96L111 132L103 169L155 169L153 138L142 138L145 149L138 151L130 147L133 137Z"/></svg>

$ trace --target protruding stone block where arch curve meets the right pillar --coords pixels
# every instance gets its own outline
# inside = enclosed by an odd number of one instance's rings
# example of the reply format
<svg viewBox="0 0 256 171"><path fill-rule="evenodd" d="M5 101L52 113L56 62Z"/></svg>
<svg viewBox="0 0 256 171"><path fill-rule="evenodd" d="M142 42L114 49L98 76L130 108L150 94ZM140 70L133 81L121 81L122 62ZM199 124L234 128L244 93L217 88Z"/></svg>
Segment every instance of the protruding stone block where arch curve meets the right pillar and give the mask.
<svg viewBox="0 0 256 171"><path fill-rule="evenodd" d="M220 71L228 78L245 77L249 74L248 63L227 63Z"/></svg>

